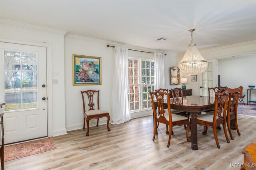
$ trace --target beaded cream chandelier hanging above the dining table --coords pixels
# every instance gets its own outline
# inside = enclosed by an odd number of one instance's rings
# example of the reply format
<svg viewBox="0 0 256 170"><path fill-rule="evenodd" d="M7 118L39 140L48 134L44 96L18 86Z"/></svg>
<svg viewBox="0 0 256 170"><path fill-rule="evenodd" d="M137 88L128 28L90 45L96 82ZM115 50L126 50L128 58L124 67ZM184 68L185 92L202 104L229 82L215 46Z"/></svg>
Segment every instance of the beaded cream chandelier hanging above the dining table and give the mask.
<svg viewBox="0 0 256 170"><path fill-rule="evenodd" d="M193 44L193 31L195 30L188 30L191 32L191 44L188 45L188 49L179 63L180 71L183 74L200 74L205 72L208 67L206 59L202 57L196 44Z"/></svg>

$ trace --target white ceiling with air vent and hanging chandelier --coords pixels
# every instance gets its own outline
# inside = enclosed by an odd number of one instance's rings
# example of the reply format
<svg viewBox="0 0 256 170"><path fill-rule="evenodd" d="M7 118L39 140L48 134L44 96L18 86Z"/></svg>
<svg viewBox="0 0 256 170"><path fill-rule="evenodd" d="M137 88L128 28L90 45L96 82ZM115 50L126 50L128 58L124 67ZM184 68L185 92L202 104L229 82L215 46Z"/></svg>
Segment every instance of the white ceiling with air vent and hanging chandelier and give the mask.
<svg viewBox="0 0 256 170"><path fill-rule="evenodd" d="M0 18L164 51L256 40L256 0L1 0ZM166 41L153 41L159 37Z"/></svg>

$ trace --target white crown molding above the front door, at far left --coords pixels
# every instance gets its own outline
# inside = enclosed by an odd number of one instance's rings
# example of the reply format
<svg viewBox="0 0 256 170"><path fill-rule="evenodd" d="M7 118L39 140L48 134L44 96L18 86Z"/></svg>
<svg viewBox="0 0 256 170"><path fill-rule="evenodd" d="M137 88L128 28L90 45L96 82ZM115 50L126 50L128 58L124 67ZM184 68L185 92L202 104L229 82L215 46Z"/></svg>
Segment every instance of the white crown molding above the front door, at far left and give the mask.
<svg viewBox="0 0 256 170"><path fill-rule="evenodd" d="M32 25L32 24L28 24L28 23L21 23L21 22L4 20L4 19L0 19L0 25L7 25L7 26L11 26L11 27L18 27L18 28L24 28L24 29L31 29L31 30L35 30L35 31L47 32L47 33L52 33L52 34L57 34L57 35L65 35L68 32L68 31L64 31L64 30L60 30L60 29L53 29L53 28L42 27L42 26Z"/></svg>

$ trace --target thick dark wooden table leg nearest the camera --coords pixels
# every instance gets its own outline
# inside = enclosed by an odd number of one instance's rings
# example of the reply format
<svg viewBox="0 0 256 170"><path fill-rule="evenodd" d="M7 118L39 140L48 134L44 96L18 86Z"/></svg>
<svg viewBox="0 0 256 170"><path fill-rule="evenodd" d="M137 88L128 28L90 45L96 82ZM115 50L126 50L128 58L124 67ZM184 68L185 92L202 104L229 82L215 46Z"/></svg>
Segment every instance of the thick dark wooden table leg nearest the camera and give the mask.
<svg viewBox="0 0 256 170"><path fill-rule="evenodd" d="M197 145L197 114L196 112L191 112L191 149L198 150Z"/></svg>

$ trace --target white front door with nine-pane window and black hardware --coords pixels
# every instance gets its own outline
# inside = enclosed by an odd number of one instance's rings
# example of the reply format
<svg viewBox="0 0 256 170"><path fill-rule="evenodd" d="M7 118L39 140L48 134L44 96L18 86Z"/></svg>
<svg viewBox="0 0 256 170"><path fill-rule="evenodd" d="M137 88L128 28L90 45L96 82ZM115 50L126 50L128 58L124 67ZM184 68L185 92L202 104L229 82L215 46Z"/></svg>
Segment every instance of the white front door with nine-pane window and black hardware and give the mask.
<svg viewBox="0 0 256 170"><path fill-rule="evenodd" d="M46 47L0 44L4 143L47 136Z"/></svg>

